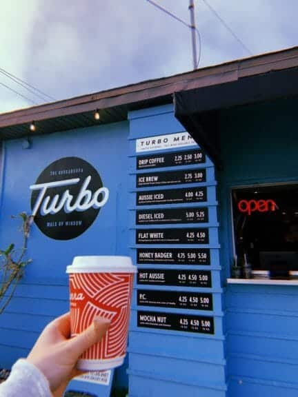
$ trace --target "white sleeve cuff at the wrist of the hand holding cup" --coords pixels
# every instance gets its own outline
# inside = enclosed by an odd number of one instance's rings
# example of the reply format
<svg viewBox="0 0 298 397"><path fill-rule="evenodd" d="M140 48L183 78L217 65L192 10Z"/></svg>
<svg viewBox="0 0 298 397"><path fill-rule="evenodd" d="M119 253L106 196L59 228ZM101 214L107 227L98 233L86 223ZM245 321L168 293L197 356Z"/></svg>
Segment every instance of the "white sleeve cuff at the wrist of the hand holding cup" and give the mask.
<svg viewBox="0 0 298 397"><path fill-rule="evenodd" d="M21 358L12 366L8 379L0 385L0 397L52 397L43 373Z"/></svg>

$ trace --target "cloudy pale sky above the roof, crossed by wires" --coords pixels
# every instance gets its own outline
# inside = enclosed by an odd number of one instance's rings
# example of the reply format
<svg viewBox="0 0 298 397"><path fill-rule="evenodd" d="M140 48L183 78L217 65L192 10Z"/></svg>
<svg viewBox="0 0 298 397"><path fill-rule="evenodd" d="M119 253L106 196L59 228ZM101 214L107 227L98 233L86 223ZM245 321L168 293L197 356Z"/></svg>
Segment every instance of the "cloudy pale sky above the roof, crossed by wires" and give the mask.
<svg viewBox="0 0 298 397"><path fill-rule="evenodd" d="M206 0L252 54L297 45L297 0ZM188 0L155 0L189 23ZM190 30L146 0L0 0L0 68L54 99L192 70ZM195 0L199 68L250 54ZM0 113L32 103L0 74Z"/></svg>

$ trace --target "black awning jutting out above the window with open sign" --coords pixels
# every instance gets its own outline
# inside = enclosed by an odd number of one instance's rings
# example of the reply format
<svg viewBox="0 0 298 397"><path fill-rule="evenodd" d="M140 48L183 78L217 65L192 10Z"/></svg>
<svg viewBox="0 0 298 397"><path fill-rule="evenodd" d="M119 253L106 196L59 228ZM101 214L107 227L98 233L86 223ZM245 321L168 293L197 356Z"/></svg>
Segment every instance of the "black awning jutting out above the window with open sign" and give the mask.
<svg viewBox="0 0 298 397"><path fill-rule="evenodd" d="M175 116L210 159L221 167L218 112L235 106L298 95L298 68L242 77L219 85L175 92Z"/></svg>

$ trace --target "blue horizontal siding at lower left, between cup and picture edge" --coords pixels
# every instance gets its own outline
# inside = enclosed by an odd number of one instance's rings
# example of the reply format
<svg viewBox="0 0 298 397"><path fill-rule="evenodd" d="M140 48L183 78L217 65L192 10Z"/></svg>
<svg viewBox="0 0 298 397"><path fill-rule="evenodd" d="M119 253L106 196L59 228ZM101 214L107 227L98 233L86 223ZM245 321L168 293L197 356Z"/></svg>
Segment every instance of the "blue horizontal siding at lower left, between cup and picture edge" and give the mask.
<svg viewBox="0 0 298 397"><path fill-rule="evenodd" d="M68 312L67 285L20 283L0 316L0 367L10 368L27 356L43 328Z"/></svg>

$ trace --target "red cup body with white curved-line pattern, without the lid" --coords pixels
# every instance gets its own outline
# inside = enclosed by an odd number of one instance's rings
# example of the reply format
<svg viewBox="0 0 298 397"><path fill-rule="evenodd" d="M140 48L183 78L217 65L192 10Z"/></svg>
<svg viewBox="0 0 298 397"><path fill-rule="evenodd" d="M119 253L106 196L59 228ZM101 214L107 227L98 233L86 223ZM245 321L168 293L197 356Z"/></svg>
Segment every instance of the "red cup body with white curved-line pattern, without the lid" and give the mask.
<svg viewBox="0 0 298 397"><path fill-rule="evenodd" d="M132 274L70 274L70 292L74 301L81 294L88 301L71 308L72 334L78 334L92 323L92 318L102 316L112 321L112 326L101 343L81 356L83 359L103 359L123 356L126 352L127 332L132 291ZM80 294L80 295L79 295Z"/></svg>

